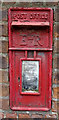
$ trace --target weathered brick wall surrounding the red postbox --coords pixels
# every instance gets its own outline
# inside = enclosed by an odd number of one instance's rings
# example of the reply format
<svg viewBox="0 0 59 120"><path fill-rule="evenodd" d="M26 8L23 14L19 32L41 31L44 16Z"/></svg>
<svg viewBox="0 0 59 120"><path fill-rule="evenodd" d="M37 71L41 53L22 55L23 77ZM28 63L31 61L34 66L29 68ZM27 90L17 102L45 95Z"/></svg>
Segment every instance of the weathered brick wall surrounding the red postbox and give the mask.
<svg viewBox="0 0 59 120"><path fill-rule="evenodd" d="M10 7L50 7L54 11L52 108L42 111L12 111L9 105L8 9ZM0 2L0 118L58 118L59 114L59 3Z"/></svg>

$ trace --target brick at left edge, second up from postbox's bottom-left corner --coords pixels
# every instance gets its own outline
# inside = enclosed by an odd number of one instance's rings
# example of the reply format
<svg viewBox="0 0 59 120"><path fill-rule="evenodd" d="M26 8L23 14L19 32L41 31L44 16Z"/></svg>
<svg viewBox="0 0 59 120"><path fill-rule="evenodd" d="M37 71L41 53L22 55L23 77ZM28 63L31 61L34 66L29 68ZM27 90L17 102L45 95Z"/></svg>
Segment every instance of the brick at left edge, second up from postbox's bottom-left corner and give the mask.
<svg viewBox="0 0 59 120"><path fill-rule="evenodd" d="M9 85L0 85L0 96L9 96Z"/></svg>

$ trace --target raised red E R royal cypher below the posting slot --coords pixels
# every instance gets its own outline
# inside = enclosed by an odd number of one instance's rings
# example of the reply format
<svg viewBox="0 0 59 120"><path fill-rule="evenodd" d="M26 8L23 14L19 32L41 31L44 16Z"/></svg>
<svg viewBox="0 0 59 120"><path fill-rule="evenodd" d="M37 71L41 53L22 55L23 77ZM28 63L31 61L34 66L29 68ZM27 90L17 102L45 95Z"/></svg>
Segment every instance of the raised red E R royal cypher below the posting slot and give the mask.
<svg viewBox="0 0 59 120"><path fill-rule="evenodd" d="M27 45L27 46L42 46L43 43L41 41L41 38L39 35L35 35L35 34L20 34L20 39L21 39L21 43L20 45Z"/></svg>

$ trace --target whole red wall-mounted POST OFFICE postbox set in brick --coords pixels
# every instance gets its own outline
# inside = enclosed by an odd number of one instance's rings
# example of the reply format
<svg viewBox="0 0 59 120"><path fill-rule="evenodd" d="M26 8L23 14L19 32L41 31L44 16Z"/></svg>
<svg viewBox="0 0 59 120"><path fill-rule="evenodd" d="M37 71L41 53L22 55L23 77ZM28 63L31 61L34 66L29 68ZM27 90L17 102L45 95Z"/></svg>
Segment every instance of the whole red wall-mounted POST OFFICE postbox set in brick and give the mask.
<svg viewBox="0 0 59 120"><path fill-rule="evenodd" d="M12 110L51 108L52 24L50 8L9 9Z"/></svg>

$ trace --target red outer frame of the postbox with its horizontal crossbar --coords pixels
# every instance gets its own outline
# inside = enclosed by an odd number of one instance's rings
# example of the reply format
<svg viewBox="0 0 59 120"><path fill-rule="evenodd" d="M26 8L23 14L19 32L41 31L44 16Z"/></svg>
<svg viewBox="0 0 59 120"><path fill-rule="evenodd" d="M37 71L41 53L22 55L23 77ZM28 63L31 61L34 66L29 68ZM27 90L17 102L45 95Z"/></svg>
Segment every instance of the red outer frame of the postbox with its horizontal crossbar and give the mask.
<svg viewBox="0 0 59 120"><path fill-rule="evenodd" d="M31 10L31 11L35 11L35 10L37 10L37 11L39 11L39 10L49 10L50 11L50 14L51 14L51 17L50 17L50 26L48 25L48 27L50 27L50 38L51 38L51 44L50 44L50 48L38 48L38 49L36 49L36 48L14 48L14 47L12 47L12 43L11 43L11 34L12 34L12 32L11 32L11 27L13 26L13 24L11 24L11 11L14 11L14 10ZM51 8L10 8L9 9L9 13L8 13L8 18L9 18L9 23L8 23L8 26L9 26L9 77L10 77L10 108L12 109L12 110L35 110L35 111L38 111L38 110L42 110L42 111L48 111L48 110L50 110L51 109L51 76L52 76L52 64L51 64L51 61L50 61L50 69L49 69L49 72L50 72L50 76L49 76L49 105L48 105L48 107L40 107L40 108L36 108L36 107L34 107L34 108L29 108L29 107L14 107L12 104L11 104L11 101L14 101L14 99L13 99L13 96L12 96L12 89L11 89L11 86L13 87L13 84L12 84L12 81L13 81L13 78L12 78L12 69L13 69L13 66L12 66L12 55L14 55L14 54L12 54L12 52L13 51L20 51L20 50L34 50L34 51L45 51L45 52L51 52L52 53L52 30L53 30L53 27L52 27L52 25L53 25L53 11L52 11L52 9ZM18 24L19 25L19 24ZM44 24L44 26L46 26L45 24ZM49 56L49 58L52 60L52 55L50 55ZM13 57L13 59L14 59L14 57ZM13 81L13 83L14 83L14 81Z"/></svg>

